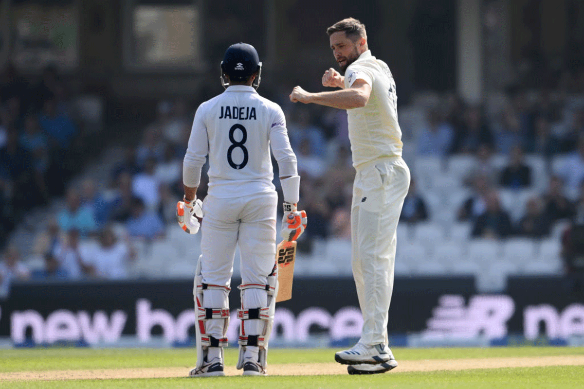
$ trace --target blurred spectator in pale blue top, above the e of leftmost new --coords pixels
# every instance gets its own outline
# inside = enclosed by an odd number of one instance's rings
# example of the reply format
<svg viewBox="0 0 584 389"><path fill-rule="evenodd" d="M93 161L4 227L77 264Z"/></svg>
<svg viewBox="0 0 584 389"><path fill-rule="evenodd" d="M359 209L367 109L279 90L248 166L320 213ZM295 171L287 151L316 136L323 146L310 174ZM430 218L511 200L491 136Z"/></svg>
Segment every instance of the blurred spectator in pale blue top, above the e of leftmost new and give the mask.
<svg viewBox="0 0 584 389"><path fill-rule="evenodd" d="M67 239L63 240L55 250L55 258L67 271L70 279L93 278L95 268L86 260L88 250L86 247L81 247L79 243L79 230L74 227L69 229Z"/></svg>

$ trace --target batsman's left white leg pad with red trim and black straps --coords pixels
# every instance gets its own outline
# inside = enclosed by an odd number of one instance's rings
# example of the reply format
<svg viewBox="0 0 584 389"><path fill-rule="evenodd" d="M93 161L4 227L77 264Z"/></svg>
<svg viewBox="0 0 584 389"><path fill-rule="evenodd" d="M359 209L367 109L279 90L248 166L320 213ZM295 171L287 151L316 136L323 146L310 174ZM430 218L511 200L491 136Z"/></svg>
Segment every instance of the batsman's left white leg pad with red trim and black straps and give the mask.
<svg viewBox="0 0 584 389"><path fill-rule="evenodd" d="M228 345L225 334L229 327L229 290L225 286L203 283L199 258L193 287L194 310L197 313L197 369L206 361L210 347L219 348L223 359L223 348Z"/></svg>

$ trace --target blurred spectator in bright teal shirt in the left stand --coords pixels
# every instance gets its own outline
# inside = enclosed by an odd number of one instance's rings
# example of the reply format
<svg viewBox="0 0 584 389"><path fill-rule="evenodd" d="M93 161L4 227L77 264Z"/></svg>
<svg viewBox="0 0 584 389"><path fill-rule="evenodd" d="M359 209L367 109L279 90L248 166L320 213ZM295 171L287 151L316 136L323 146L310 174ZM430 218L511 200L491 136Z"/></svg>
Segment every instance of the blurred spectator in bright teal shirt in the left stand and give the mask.
<svg viewBox="0 0 584 389"><path fill-rule="evenodd" d="M76 188L69 188L65 198L65 209L57 217L61 230L78 230L81 236L88 236L97 229L91 208L81 205L81 196Z"/></svg>

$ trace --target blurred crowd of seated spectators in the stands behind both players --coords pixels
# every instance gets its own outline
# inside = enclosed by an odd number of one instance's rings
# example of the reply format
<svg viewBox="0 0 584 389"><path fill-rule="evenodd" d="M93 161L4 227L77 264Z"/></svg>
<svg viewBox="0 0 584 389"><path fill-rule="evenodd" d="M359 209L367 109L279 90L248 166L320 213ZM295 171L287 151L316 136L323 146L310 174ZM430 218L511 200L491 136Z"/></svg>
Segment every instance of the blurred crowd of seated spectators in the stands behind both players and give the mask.
<svg viewBox="0 0 584 389"><path fill-rule="evenodd" d="M30 86L9 67L0 93L3 242L31 204L65 198L34 242L43 267L27 269L18 250L6 247L0 263L4 284L11 278L126 278L127 264L140 260L134 243L164 240L168 227L175 226L194 104L181 98L160 101L155 120L137 142L124 146L107 183L85 178L70 185L82 166L79 150L86 138L54 69L47 68L38 85ZM468 239L550 237L558 220L573 219L584 204L583 96L584 85L560 79L553 90L510 91L498 106L439 96L437 104L424 107L423 120L405 118L404 153L413 179L401 223L434 220L446 228L468 223ZM350 240L354 169L346 114L290 106L286 99L280 96L302 177L301 207L310 219L299 248L310 253L313 241ZM454 161L465 163L455 166ZM199 198L206 195L203 170ZM456 195L453 188L460 188ZM503 192L529 196L505 202ZM446 208L446 217L433 200L437 194L458 201ZM84 239L96 244L85 249L79 245Z"/></svg>

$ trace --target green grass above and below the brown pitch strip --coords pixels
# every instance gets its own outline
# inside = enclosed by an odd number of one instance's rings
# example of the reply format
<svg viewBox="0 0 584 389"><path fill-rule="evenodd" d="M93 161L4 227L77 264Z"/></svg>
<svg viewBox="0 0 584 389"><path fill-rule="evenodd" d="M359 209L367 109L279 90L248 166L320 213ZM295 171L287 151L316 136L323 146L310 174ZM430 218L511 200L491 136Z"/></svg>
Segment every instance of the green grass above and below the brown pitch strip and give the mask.
<svg viewBox="0 0 584 389"><path fill-rule="evenodd" d="M393 348L398 360L584 356L584 348ZM272 349L270 364L333 362L333 349ZM189 379L99 379L62 381L3 380L2 373L47 370L89 370L192 367L194 349L33 348L0 350L0 388L584 388L584 366L506 367L499 369L440 370L349 376L217 377ZM237 349L225 353L235 365ZM410 365L412 365L412 362ZM404 364L405 365L405 364Z"/></svg>

